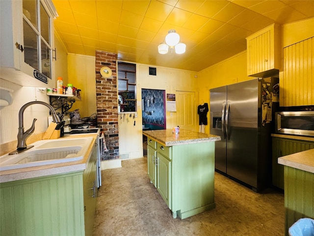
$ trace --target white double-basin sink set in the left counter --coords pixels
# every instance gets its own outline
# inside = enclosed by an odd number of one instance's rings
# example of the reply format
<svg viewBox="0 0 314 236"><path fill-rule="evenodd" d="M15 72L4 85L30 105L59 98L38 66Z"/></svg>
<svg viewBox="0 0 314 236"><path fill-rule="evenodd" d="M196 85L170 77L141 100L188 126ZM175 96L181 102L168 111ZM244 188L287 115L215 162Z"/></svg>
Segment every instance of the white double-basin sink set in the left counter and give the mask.
<svg viewBox="0 0 314 236"><path fill-rule="evenodd" d="M93 138L41 140L16 155L0 156L0 171L81 160Z"/></svg>

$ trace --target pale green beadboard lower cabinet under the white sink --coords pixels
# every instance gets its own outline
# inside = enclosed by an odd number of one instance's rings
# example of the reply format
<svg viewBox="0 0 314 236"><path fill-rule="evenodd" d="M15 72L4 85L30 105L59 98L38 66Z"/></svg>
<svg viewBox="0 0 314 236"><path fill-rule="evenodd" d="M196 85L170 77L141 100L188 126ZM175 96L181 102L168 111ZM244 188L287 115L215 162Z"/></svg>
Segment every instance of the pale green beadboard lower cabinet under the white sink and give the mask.
<svg viewBox="0 0 314 236"><path fill-rule="evenodd" d="M0 236L92 235L96 158L94 148L84 171L1 183Z"/></svg>

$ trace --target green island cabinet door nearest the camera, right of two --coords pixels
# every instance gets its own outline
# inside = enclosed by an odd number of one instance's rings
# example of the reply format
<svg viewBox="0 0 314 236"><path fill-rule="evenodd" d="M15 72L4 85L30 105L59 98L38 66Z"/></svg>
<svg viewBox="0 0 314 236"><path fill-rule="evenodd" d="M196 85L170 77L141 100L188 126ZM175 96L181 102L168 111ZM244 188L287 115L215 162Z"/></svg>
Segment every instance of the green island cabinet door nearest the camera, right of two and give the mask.
<svg viewBox="0 0 314 236"><path fill-rule="evenodd" d="M169 203L171 203L171 161L159 152L157 152L157 191L169 207Z"/></svg>

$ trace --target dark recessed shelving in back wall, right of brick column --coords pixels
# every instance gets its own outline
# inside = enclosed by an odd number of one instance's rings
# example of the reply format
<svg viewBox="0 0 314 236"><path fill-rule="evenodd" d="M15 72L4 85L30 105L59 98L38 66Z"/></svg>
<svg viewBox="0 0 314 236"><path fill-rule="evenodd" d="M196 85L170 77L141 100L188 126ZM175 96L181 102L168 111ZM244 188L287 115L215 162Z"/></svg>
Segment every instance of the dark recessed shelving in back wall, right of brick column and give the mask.
<svg viewBox="0 0 314 236"><path fill-rule="evenodd" d="M118 112L136 112L136 64L118 61Z"/></svg>

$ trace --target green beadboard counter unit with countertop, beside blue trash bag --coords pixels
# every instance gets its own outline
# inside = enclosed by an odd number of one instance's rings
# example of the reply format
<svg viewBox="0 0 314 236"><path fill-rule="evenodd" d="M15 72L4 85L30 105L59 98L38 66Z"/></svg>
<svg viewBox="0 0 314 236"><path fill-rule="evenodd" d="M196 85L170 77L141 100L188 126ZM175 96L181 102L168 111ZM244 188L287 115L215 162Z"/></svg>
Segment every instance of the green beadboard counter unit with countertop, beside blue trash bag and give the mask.
<svg viewBox="0 0 314 236"><path fill-rule="evenodd" d="M285 235L301 218L314 219L314 149L278 158L285 167Z"/></svg>

